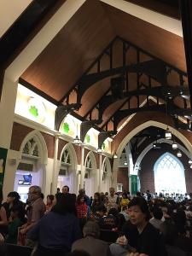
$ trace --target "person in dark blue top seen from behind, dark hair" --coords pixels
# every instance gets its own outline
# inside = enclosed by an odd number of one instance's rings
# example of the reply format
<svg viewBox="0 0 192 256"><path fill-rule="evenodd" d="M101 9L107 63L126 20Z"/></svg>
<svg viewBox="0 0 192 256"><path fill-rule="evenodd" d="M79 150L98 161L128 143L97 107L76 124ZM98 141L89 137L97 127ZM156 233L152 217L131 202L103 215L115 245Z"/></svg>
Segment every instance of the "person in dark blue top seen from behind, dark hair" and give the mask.
<svg viewBox="0 0 192 256"><path fill-rule="evenodd" d="M38 241L36 256L63 256L71 251L73 241L81 237L74 204L71 194L56 195L56 204L49 214L27 233L27 238Z"/></svg>

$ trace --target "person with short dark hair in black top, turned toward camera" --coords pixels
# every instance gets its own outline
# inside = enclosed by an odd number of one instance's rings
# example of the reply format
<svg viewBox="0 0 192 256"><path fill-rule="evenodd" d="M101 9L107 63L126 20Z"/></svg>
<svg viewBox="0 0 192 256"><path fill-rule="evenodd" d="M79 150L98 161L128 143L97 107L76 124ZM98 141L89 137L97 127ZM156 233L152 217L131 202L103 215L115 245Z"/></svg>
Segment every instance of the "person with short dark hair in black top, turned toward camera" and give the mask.
<svg viewBox="0 0 192 256"><path fill-rule="evenodd" d="M131 200L128 207L130 221L131 224L133 224L133 227L131 227L130 236L131 234L132 236L134 234L135 237L134 239L127 237L127 247L125 247L125 237L119 237L119 245L112 244L110 246L112 254L126 255L126 248L128 248L130 253L140 253L148 256L166 256L166 247L158 230L156 230L152 224L148 223L150 213L148 211L147 201L145 201L142 197L135 197ZM134 228L134 226L137 230Z"/></svg>

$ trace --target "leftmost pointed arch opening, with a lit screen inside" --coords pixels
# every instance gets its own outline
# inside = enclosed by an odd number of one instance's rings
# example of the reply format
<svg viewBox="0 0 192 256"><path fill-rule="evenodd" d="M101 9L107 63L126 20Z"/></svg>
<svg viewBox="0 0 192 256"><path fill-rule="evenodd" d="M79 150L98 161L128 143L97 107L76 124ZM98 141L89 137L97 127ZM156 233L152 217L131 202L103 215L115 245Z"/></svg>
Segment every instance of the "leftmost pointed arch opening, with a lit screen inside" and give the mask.
<svg viewBox="0 0 192 256"><path fill-rule="evenodd" d="M43 135L37 130L28 133L20 144L20 160L15 170L14 189L22 201L26 201L31 185L38 185L44 194L48 193L47 162L48 150Z"/></svg>

